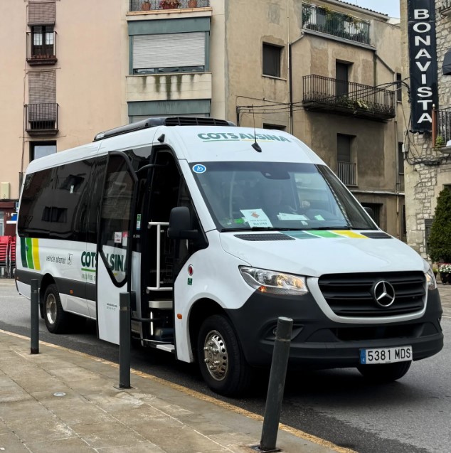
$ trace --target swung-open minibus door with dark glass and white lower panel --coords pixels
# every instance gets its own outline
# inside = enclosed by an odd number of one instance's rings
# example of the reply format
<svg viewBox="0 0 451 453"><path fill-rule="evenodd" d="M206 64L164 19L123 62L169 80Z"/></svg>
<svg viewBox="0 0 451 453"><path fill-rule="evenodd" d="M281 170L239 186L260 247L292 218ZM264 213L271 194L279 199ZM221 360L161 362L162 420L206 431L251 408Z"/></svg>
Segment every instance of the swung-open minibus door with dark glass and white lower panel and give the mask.
<svg viewBox="0 0 451 453"><path fill-rule="evenodd" d="M108 156L97 242L97 330L119 344L119 297L130 290L132 215L137 177L127 156Z"/></svg>

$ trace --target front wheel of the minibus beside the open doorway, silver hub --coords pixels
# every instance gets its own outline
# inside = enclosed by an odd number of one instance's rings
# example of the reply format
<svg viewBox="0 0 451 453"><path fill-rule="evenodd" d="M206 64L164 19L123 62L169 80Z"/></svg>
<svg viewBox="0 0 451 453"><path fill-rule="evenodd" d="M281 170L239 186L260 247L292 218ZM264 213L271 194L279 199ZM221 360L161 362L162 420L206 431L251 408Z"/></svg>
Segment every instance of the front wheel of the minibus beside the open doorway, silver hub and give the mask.
<svg viewBox="0 0 451 453"><path fill-rule="evenodd" d="M250 384L250 366L226 316L210 316L201 326L197 343L203 379L221 395L240 395Z"/></svg>

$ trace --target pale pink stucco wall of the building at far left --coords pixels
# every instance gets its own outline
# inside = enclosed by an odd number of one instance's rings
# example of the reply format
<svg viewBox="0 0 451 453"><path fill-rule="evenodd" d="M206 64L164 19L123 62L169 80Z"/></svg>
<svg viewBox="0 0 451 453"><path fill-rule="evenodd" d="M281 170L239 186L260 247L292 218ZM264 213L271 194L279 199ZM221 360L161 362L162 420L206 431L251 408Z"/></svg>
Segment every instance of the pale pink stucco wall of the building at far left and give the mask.
<svg viewBox="0 0 451 453"><path fill-rule="evenodd" d="M125 75L128 69L127 0L55 2L55 65L26 63L26 1L2 0L0 58L7 70L0 73L0 181L18 198L19 173L29 161L30 141L54 141L61 151L91 142L97 132L128 121ZM55 70L59 132L30 137L23 130L23 105L28 103L28 74Z"/></svg>

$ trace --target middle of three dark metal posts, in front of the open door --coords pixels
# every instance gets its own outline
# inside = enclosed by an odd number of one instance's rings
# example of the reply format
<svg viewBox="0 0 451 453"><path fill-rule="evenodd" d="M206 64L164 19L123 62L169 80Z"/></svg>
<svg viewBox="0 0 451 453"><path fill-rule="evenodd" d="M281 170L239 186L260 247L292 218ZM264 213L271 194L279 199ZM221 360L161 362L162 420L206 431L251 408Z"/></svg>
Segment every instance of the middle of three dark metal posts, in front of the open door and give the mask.
<svg viewBox="0 0 451 453"><path fill-rule="evenodd" d="M130 388L130 294L119 294L119 387Z"/></svg>

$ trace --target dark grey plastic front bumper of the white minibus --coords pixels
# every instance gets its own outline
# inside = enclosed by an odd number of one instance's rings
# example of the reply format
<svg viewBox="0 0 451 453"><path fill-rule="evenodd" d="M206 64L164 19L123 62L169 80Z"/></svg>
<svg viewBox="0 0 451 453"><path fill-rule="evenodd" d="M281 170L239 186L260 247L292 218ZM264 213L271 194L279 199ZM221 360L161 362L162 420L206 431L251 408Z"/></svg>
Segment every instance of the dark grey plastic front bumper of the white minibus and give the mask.
<svg viewBox="0 0 451 453"><path fill-rule="evenodd" d="M346 368L359 365L361 348L411 345L413 360L438 353L443 347L442 307L437 289L428 292L425 314L409 321L359 324L331 321L312 294L278 297L255 292L243 307L228 310L243 353L252 366L272 361L277 318L293 320L289 365L304 368Z"/></svg>

